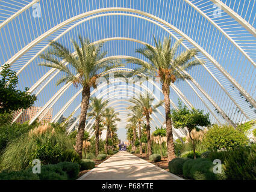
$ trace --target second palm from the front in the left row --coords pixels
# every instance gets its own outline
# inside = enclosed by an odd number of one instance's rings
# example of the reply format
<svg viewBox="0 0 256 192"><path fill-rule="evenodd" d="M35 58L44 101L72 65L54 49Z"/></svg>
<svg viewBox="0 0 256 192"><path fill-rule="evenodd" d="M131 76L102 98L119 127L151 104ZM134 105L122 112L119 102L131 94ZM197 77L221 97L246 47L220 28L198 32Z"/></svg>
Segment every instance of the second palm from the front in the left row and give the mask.
<svg viewBox="0 0 256 192"><path fill-rule="evenodd" d="M102 98L92 97L89 106L88 116L95 118L95 154L99 154L99 125L104 118L104 108L107 107L108 101L102 101Z"/></svg>

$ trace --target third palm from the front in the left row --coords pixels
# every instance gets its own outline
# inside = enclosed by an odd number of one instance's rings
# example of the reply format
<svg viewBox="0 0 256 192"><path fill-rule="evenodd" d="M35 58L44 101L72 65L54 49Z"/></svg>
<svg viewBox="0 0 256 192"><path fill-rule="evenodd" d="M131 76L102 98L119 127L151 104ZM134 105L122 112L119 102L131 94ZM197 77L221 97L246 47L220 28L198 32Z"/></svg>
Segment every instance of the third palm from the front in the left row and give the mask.
<svg viewBox="0 0 256 192"><path fill-rule="evenodd" d="M105 125L105 127L107 127L107 134L106 134L106 139L105 139L105 153L106 154L109 149L108 139L110 139L111 128L114 127L114 123L116 121L121 121L121 119L117 118L117 115L119 115L119 113L114 112L113 108L107 107L107 109L105 109L105 113L104 113L105 121L103 122L103 124Z"/></svg>

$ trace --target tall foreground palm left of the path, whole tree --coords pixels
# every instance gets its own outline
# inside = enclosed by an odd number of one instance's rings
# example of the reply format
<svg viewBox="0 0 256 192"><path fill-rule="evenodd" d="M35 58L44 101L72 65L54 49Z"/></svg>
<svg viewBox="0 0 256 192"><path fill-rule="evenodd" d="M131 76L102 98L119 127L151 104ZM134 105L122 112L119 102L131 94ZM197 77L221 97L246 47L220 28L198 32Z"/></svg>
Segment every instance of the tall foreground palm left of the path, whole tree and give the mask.
<svg viewBox="0 0 256 192"><path fill-rule="evenodd" d="M81 48L75 40L72 40L75 54L57 41L51 41L51 49L40 55L40 58L45 59L47 62L43 62L40 65L56 68L64 72L64 76L57 81L57 85L64 82L72 82L74 86L81 85L83 88L80 123L78 125L75 144L75 151L82 158L83 136L90 100L90 88L96 88L96 80L99 77L105 76L105 72L121 65L119 65L116 59L104 58L107 55L107 51L101 52L103 43L92 44L88 39L82 38L81 36L79 36L79 41ZM71 68L67 67L64 64L65 62L70 64Z"/></svg>

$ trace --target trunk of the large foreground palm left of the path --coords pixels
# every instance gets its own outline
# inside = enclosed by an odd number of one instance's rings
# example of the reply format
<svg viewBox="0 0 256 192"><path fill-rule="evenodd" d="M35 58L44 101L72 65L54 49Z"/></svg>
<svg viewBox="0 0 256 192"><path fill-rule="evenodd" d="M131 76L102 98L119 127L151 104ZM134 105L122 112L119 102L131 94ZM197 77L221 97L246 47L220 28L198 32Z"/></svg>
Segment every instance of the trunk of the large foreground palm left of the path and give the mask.
<svg viewBox="0 0 256 192"><path fill-rule="evenodd" d="M85 86L82 91L80 123L78 125L78 133L76 136L76 143L75 143L75 151L78 153L80 158L83 158L82 157L83 137L84 137L84 128L86 127L86 115L87 115L87 109L89 106L89 100L90 100L90 88L89 86Z"/></svg>

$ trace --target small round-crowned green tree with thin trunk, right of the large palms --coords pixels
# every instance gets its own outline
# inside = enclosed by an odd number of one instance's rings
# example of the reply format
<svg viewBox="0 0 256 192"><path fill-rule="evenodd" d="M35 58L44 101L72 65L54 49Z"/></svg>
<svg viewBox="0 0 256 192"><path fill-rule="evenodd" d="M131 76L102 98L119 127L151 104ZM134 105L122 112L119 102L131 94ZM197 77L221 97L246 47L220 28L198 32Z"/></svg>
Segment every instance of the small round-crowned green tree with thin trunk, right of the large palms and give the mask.
<svg viewBox="0 0 256 192"><path fill-rule="evenodd" d="M178 110L172 109L172 121L174 128L185 128L189 131L189 137L192 140L194 158L196 158L195 142L191 136L191 131L195 129L199 131L198 126L208 126L211 124L209 119L209 113L204 114L203 110L192 109L182 105L181 101L178 104Z"/></svg>

